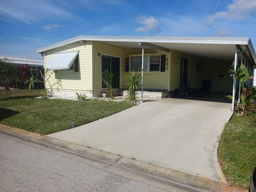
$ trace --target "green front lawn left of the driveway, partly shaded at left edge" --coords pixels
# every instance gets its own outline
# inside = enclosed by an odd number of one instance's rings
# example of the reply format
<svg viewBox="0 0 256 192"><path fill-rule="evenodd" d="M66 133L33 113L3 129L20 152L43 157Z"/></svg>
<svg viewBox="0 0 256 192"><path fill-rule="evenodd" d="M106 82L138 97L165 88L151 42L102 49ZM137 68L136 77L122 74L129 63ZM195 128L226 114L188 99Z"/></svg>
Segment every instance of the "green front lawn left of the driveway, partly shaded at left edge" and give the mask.
<svg viewBox="0 0 256 192"><path fill-rule="evenodd" d="M74 122L83 125L130 108L135 104L121 101L91 99L73 101L65 99L35 99L40 90L0 92L0 122L5 125L49 134L70 129ZM111 122L109 122L111 125Z"/></svg>

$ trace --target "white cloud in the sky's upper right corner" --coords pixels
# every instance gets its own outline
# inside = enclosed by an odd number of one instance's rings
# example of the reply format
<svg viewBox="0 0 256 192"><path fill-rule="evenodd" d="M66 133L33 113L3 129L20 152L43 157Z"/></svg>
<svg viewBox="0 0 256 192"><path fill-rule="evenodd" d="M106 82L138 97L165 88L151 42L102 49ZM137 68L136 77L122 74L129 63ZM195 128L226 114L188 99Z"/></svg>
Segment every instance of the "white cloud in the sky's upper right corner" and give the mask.
<svg viewBox="0 0 256 192"><path fill-rule="evenodd" d="M208 16L203 22L207 26L212 26L217 18L229 20L245 20L251 13L256 11L255 0L233 0L228 5L227 11L219 11L211 16Z"/></svg>

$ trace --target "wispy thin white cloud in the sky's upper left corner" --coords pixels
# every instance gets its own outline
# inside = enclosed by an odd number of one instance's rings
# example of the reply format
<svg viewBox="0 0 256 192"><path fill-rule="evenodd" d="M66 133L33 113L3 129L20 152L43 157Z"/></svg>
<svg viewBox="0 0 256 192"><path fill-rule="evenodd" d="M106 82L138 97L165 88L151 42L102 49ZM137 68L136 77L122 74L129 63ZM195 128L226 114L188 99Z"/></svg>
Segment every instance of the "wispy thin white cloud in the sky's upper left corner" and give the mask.
<svg viewBox="0 0 256 192"><path fill-rule="evenodd" d="M4 0L1 2L0 15L24 23L40 22L43 19L74 20L76 18L73 14L43 0Z"/></svg>

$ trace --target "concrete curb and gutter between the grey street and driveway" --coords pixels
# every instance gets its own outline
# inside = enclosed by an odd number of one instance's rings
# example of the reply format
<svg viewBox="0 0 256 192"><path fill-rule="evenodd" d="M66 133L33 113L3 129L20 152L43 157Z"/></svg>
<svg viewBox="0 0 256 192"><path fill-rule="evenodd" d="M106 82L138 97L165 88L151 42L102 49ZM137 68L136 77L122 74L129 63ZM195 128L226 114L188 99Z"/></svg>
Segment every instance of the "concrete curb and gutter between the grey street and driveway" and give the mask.
<svg viewBox="0 0 256 192"><path fill-rule="evenodd" d="M225 183L209 180L204 177L169 169L160 165L154 165L134 158L124 157L118 154L90 148L88 146L55 139L37 133L31 133L26 130L21 130L2 124L0 124L0 130L6 133L17 135L18 137L24 137L25 140L28 138L27 140L32 140L32 142L39 145L43 144L45 146L55 148L55 150L57 148L58 150L69 152L70 154L72 153L80 155L86 159L86 163L89 165L167 190L168 186L174 185L180 186L186 189L186 191L247 191L238 187L230 187ZM96 163L97 161L99 164ZM160 182L161 186L159 186L157 182Z"/></svg>

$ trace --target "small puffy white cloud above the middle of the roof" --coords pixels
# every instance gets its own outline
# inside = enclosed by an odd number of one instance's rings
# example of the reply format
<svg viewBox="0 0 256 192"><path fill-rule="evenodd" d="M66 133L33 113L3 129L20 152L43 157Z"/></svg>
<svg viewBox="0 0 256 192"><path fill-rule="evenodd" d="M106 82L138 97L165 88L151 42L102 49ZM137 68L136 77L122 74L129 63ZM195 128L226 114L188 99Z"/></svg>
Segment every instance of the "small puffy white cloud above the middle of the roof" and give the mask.
<svg viewBox="0 0 256 192"><path fill-rule="evenodd" d="M138 27L135 30L135 32L151 32L151 31L161 32L161 29L158 25L158 20L155 19L155 17L153 16L140 15L137 18L132 20L144 25L144 27Z"/></svg>

